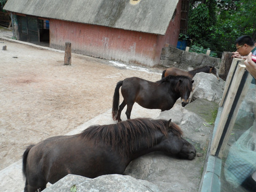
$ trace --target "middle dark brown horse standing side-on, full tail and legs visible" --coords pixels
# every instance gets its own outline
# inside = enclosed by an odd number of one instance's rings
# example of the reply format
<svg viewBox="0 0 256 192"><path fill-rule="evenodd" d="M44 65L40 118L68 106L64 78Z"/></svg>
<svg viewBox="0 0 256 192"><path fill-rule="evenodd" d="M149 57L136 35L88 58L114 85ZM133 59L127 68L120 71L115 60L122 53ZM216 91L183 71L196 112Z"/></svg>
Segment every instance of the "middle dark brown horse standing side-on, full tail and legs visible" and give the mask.
<svg viewBox="0 0 256 192"><path fill-rule="evenodd" d="M130 77L119 81L113 96L112 117L118 122L122 121L121 112L127 105L125 114L127 119L130 119L134 102L147 109L164 111L171 109L174 103L181 98L181 105L185 107L193 82L186 76L167 76L157 82L150 82L139 77ZM124 101L119 106L119 88L121 86Z"/></svg>

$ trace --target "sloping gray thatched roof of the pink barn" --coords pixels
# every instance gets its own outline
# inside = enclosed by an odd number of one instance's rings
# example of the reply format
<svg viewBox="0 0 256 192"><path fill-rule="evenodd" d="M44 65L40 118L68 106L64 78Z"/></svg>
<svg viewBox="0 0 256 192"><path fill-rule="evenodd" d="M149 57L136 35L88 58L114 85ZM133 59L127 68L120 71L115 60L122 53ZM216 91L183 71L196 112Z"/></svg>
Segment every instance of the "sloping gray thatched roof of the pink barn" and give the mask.
<svg viewBox="0 0 256 192"><path fill-rule="evenodd" d="M164 35L179 0L8 0L6 11Z"/></svg>

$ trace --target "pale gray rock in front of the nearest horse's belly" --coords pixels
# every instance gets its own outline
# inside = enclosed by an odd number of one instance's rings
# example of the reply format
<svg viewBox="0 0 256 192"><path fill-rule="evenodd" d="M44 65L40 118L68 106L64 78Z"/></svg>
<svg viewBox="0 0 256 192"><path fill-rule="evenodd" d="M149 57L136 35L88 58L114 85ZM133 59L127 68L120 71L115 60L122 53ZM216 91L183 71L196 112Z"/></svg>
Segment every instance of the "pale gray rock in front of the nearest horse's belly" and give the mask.
<svg viewBox="0 0 256 192"><path fill-rule="evenodd" d="M44 192L70 192L71 187L75 186L76 192L160 192L159 188L153 183L145 180L134 179L129 175L102 175L90 179L79 175L69 174L52 186L47 187Z"/></svg>

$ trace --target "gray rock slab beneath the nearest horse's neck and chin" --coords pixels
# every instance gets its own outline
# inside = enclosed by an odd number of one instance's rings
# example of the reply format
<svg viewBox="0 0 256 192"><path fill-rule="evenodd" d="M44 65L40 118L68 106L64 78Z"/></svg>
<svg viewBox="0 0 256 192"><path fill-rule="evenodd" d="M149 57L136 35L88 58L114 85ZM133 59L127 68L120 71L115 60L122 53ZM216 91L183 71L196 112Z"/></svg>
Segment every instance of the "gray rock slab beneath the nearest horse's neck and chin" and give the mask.
<svg viewBox="0 0 256 192"><path fill-rule="evenodd" d="M199 188L203 162L203 157L189 161L155 152L134 159L124 173L150 181L163 192L195 192Z"/></svg>

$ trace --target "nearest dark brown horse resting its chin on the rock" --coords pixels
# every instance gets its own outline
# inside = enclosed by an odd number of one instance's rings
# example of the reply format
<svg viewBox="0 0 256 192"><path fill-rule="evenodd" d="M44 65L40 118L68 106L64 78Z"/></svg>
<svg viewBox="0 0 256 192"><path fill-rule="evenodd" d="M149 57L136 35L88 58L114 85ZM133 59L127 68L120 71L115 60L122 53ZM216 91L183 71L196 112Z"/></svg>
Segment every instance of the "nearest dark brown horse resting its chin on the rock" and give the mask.
<svg viewBox="0 0 256 192"><path fill-rule="evenodd" d="M80 134L51 137L29 146L23 154L25 192L43 190L67 174L95 178L122 174L135 158L152 151L193 159L196 150L169 121L132 119L90 126Z"/></svg>

